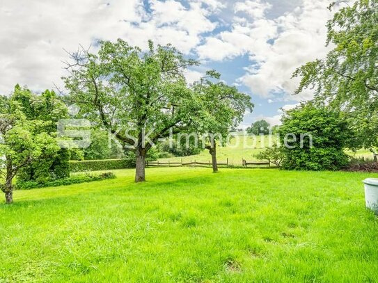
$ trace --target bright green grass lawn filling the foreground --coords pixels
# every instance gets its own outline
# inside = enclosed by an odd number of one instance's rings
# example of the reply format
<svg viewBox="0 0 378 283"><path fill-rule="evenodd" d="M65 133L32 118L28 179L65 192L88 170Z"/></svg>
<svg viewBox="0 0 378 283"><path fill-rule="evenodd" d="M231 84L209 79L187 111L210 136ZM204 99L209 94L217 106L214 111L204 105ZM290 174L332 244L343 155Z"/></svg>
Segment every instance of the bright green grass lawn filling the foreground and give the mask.
<svg viewBox="0 0 378 283"><path fill-rule="evenodd" d="M152 168L16 191L0 282L377 282L374 174Z"/></svg>

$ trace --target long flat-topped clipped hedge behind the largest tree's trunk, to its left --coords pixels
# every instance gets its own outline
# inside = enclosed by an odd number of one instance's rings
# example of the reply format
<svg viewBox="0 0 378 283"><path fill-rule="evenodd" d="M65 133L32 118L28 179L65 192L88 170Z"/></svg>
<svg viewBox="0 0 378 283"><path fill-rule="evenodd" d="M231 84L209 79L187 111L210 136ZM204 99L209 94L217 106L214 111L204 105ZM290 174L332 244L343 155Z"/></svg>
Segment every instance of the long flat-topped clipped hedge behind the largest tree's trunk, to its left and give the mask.
<svg viewBox="0 0 378 283"><path fill-rule="evenodd" d="M71 172L114 170L134 167L135 161L132 161L130 159L70 161Z"/></svg>

